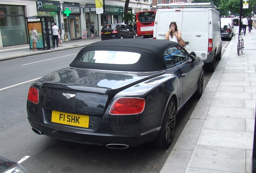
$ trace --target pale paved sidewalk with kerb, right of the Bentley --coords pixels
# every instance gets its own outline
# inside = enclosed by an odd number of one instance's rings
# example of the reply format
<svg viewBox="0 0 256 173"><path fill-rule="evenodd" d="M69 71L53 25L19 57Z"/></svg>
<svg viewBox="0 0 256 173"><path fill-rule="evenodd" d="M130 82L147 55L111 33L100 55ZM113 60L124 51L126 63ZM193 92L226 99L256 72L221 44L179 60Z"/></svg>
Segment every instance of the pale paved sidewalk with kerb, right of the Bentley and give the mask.
<svg viewBox="0 0 256 173"><path fill-rule="evenodd" d="M238 32L238 29L236 30ZM250 173L256 104L256 29L233 37L160 173Z"/></svg>

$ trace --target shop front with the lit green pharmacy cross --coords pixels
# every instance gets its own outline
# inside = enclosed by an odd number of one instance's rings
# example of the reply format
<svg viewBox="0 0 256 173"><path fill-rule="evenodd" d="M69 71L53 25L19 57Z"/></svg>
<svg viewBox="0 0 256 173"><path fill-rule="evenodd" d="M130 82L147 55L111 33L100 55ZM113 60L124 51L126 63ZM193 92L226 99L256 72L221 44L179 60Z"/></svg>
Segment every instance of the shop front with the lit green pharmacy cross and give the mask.
<svg viewBox="0 0 256 173"><path fill-rule="evenodd" d="M62 14L64 20L64 32L70 36L70 40L82 39L80 14L78 3L63 3Z"/></svg>

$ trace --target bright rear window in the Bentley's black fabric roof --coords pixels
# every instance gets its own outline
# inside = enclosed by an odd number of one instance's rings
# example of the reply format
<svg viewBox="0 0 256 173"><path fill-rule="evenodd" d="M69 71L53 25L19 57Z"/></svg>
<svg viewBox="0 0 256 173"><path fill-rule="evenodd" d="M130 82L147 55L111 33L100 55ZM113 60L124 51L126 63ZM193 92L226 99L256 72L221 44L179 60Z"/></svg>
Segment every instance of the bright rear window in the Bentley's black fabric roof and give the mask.
<svg viewBox="0 0 256 173"><path fill-rule="evenodd" d="M140 59L136 52L91 50L83 54L80 61L100 64L135 64Z"/></svg>

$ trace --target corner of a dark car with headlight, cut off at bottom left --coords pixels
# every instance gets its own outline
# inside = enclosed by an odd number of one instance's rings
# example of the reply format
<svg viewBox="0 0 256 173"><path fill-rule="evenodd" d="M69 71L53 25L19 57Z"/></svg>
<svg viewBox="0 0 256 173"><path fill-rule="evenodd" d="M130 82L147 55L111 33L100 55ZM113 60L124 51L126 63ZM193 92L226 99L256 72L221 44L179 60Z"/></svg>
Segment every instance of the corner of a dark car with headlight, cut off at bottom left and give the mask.
<svg viewBox="0 0 256 173"><path fill-rule="evenodd" d="M19 163L0 156L0 173L28 173Z"/></svg>

